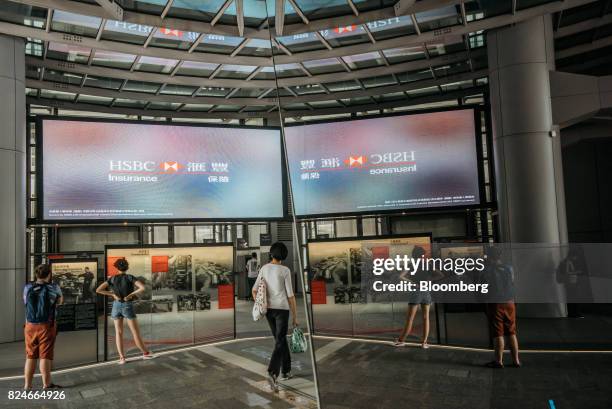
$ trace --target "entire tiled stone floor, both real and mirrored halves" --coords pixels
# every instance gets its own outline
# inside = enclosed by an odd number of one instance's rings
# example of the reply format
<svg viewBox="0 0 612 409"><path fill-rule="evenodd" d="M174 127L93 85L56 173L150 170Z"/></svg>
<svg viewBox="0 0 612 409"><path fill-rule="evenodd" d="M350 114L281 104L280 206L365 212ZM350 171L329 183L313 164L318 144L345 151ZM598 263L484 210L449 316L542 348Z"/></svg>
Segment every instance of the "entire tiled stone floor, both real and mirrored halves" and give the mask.
<svg viewBox="0 0 612 409"><path fill-rule="evenodd" d="M486 350L323 337L315 345L324 409L612 407L610 353L529 352L523 368L489 369ZM315 408L310 355L293 354L296 377L275 394L263 376L271 350L270 338L245 339L59 371L66 398L56 401L9 400L22 380L0 380L0 408Z"/></svg>

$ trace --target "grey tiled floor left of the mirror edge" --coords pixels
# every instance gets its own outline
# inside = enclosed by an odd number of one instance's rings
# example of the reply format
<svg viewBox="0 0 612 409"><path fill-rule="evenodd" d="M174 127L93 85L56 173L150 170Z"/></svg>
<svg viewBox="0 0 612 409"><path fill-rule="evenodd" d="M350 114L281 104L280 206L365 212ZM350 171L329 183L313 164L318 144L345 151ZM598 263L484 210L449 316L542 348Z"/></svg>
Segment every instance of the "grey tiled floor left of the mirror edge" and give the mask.
<svg viewBox="0 0 612 409"><path fill-rule="evenodd" d="M244 341L263 353L269 340ZM243 345L243 346L246 346ZM248 347L248 346L246 346ZM204 346L158 356L54 375L64 386L66 399L56 401L9 400L9 390L22 380L0 381L0 408L315 408L314 400L293 388L273 393L264 378L244 367L218 358L215 348ZM40 384L40 378L35 379ZM298 391L299 392L299 391Z"/></svg>

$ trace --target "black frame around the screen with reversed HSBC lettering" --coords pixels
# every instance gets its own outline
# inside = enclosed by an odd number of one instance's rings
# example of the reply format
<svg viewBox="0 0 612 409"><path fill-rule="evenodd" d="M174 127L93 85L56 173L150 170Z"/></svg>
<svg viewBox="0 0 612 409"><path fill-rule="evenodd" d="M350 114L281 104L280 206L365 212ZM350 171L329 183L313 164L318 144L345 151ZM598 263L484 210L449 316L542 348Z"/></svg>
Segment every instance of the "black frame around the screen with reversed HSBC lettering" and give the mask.
<svg viewBox="0 0 612 409"><path fill-rule="evenodd" d="M336 213L315 213L315 214L304 214L304 215L296 215L296 218L299 221L308 221L315 219L330 219L337 217L347 217L347 216L389 216L389 215L405 215L405 214L415 214L415 213L427 213L427 212L446 212L446 211L460 211L463 209L466 210L480 210L480 209L491 209L497 207L497 201L492 200L490 202L486 201L486 191L485 191L485 177L484 177L484 169L482 168L483 163L483 134L482 134L482 126L486 126L489 128L489 116L490 109L489 105L462 105L457 107L445 107L445 108L435 108L435 109L422 109L415 110L410 112L394 112L380 115L368 115L362 117L353 117L350 118L338 118L332 120L321 120L321 121L308 121L308 122L294 122L291 124L285 124L283 127L283 142L285 142L285 132L284 128L293 128L300 126L308 126L308 125L317 125L317 124L328 124L328 123L336 123L336 122L351 122L351 121L361 121L368 119L379 119L379 118L392 118L392 117L400 117L400 116L413 116L420 114L429 114L429 113L437 113L437 112L448 112L448 111L465 111L472 110L474 113L474 146L476 148L476 167L478 171L478 193L479 193L479 203L473 205L459 205L459 206L437 206L437 207L422 207L422 208L398 208L398 209L390 209L390 210L378 210L378 211L357 211L357 212L336 212ZM481 113L484 112L485 119L484 121L481 118ZM492 155L491 155L491 144L489 143L489 132L487 132L487 160L489 161L489 177L492 179L491 173L491 165L492 165ZM291 174L289 169L285 169L287 173L287 177L290 178Z"/></svg>

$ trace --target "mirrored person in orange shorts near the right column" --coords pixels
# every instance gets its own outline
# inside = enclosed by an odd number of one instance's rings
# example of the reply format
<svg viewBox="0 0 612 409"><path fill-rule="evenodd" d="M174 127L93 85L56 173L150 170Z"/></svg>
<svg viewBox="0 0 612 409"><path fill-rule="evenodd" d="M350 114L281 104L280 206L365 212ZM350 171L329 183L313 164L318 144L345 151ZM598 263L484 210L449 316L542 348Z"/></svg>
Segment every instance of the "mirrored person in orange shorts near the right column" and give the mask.
<svg viewBox="0 0 612 409"><path fill-rule="evenodd" d="M504 367L504 337L508 337L512 353L512 366L519 368L519 344L516 336L516 306L514 304L514 282L512 266L505 263L502 251L489 247L486 252L484 282L489 284L486 304L489 331L493 339L494 360L486 364L489 368Z"/></svg>

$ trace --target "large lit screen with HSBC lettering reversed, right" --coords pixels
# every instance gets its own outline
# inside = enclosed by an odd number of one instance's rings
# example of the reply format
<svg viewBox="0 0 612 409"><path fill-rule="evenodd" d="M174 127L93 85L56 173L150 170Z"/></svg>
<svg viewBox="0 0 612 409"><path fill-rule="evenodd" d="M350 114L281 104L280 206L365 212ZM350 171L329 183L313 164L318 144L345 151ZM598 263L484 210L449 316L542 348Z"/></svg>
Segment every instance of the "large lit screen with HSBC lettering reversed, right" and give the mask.
<svg viewBox="0 0 612 409"><path fill-rule="evenodd" d="M471 109L285 129L297 215L478 204Z"/></svg>

